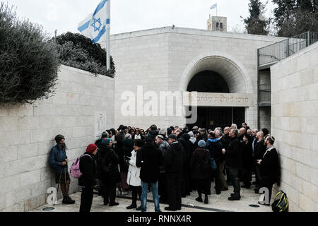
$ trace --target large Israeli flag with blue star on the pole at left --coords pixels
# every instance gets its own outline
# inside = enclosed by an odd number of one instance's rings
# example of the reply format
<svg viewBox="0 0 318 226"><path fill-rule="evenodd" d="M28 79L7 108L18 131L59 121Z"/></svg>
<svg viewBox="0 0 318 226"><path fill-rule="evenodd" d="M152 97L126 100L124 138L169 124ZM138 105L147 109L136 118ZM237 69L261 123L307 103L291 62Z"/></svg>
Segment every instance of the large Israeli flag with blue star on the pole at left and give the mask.
<svg viewBox="0 0 318 226"><path fill-rule="evenodd" d="M106 29L110 28L110 16L106 15L107 1L100 1L94 13L78 24L78 31L89 37L93 43L105 41Z"/></svg>

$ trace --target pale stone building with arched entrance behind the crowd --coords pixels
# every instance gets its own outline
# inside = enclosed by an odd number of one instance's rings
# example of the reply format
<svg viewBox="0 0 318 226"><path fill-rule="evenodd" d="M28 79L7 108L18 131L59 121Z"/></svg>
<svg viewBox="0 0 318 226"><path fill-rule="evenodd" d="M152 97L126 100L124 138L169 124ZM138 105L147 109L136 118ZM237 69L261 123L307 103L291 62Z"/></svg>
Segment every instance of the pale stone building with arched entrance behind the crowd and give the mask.
<svg viewBox="0 0 318 226"><path fill-rule="evenodd" d="M122 93L197 91L198 119L205 128L246 121L257 128L257 49L281 41L281 37L235 34L191 28L155 28L111 36L111 52L117 66L115 125L147 129L184 126L186 118L153 114L123 115ZM170 106L171 107L171 106ZM140 113L140 112L139 112ZM264 114L261 126L270 128ZM192 126L189 124L189 126Z"/></svg>

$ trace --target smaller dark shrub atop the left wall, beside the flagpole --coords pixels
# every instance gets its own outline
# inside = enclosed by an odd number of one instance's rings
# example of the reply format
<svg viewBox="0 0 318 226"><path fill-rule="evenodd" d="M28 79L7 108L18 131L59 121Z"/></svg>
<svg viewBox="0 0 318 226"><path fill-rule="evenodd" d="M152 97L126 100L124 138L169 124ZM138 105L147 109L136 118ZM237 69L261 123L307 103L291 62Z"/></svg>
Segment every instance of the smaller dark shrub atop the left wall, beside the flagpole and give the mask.
<svg viewBox="0 0 318 226"><path fill-rule="evenodd" d="M110 71L106 68L106 51L100 44L81 34L67 32L57 37L60 63L77 69L114 78L114 61L110 57Z"/></svg>

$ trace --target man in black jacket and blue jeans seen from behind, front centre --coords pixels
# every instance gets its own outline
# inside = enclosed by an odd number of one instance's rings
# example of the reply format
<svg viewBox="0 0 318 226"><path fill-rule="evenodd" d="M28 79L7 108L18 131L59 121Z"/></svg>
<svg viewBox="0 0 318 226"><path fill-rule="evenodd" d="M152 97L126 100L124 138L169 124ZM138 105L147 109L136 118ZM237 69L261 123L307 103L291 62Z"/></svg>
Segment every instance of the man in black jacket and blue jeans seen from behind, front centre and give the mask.
<svg viewBox="0 0 318 226"><path fill-rule="evenodd" d="M153 143L153 137L147 136L146 143L136 155L136 167L141 167L141 212L147 211L148 186L151 185L153 191L153 201L155 203L155 212L160 212L158 180L160 166L163 165L163 155Z"/></svg>

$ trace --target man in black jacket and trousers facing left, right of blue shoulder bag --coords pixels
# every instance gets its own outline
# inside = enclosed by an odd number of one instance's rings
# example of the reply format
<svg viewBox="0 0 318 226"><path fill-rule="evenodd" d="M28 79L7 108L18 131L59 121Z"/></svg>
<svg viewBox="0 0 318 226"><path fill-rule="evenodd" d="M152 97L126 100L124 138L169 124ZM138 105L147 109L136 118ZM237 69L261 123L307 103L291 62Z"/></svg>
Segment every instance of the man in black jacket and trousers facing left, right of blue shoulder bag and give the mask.
<svg viewBox="0 0 318 226"><path fill-rule="evenodd" d="M230 171L230 179L232 179L232 185L234 187L234 193L228 197L228 200L240 200L240 181L238 179L239 170L242 169L242 152L240 148L240 141L237 138L237 129L231 129L230 143L226 150L223 149L223 155L225 155L226 165Z"/></svg>

